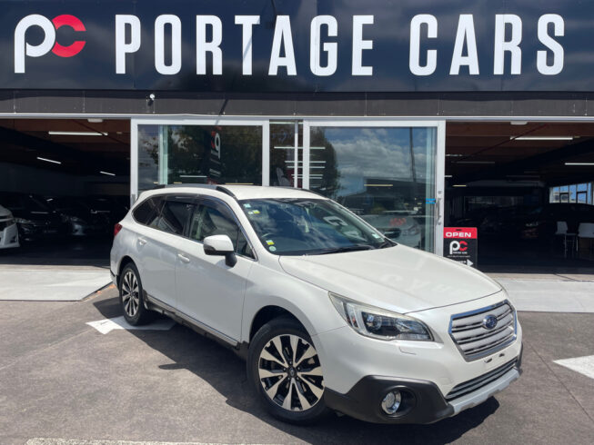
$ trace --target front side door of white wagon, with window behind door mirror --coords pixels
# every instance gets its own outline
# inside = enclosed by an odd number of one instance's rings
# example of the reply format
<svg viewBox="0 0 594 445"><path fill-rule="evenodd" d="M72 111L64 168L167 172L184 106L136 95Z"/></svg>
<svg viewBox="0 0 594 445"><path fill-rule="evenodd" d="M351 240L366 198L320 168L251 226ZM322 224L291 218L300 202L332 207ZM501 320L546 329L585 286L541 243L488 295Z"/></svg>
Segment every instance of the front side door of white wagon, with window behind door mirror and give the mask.
<svg viewBox="0 0 594 445"><path fill-rule="evenodd" d="M226 234L235 247L237 264L204 252L207 236ZM237 218L226 203L214 198L196 202L189 240L180 248L176 267L177 307L227 340L238 341L247 277L255 261Z"/></svg>

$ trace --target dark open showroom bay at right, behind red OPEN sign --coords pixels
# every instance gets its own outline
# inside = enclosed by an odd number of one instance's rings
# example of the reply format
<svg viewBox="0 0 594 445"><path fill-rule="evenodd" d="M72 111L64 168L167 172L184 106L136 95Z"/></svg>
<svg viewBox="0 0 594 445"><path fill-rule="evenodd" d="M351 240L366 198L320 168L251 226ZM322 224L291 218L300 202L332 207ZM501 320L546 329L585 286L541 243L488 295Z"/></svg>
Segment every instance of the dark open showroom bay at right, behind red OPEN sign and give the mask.
<svg viewBox="0 0 594 445"><path fill-rule="evenodd" d="M594 125L449 122L446 224L478 227L484 271L591 267Z"/></svg>

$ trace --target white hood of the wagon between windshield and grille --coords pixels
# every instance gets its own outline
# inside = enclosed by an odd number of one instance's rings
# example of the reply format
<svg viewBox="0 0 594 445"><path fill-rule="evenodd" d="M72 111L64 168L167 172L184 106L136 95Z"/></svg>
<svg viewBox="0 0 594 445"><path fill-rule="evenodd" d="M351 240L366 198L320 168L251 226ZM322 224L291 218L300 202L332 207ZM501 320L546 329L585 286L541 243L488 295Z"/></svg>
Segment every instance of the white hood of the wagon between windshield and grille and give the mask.
<svg viewBox="0 0 594 445"><path fill-rule="evenodd" d="M285 272L344 297L407 313L486 297L501 286L481 272L401 244L388 249L281 256Z"/></svg>

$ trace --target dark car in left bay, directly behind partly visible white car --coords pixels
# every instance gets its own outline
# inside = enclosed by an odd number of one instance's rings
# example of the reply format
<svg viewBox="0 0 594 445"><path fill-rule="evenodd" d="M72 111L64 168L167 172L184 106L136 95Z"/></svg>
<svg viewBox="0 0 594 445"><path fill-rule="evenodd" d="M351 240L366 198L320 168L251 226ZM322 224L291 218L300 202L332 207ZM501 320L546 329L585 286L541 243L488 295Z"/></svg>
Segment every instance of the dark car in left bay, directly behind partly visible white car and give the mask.
<svg viewBox="0 0 594 445"><path fill-rule="evenodd" d="M41 196L0 192L0 203L15 216L21 241L45 240L66 233L65 221Z"/></svg>

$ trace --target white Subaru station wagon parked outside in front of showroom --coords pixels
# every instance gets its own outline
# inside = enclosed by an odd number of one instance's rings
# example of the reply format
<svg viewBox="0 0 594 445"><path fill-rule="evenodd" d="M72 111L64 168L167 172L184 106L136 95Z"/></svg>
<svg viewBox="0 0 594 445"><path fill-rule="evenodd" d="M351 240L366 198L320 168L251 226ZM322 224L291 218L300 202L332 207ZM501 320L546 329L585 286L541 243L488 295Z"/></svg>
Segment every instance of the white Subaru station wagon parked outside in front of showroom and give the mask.
<svg viewBox="0 0 594 445"><path fill-rule="evenodd" d="M430 423L520 375L522 332L497 282L316 193L165 187L114 232L126 321L161 312L233 348L281 420Z"/></svg>

